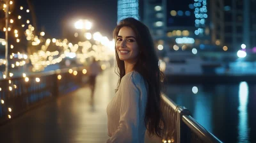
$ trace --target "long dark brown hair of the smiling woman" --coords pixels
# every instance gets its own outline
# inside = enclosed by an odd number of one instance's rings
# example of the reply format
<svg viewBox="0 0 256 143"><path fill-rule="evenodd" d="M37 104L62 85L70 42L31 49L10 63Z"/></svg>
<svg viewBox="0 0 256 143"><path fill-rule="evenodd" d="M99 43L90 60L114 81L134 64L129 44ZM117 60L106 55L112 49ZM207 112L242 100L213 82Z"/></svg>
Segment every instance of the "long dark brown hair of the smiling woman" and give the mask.
<svg viewBox="0 0 256 143"><path fill-rule="evenodd" d="M161 89L163 87L164 74L159 69L159 59L154 47L154 41L148 27L139 20L127 18L121 20L113 32L115 41L122 27L131 27L136 34L136 41L140 50L140 54L134 71L140 73L148 84L147 107L145 112L145 126L149 135L163 136L165 130L165 122L161 111ZM122 77L125 75L124 61L121 61L116 51L116 73L119 76L118 87ZM117 87L117 89L118 89Z"/></svg>

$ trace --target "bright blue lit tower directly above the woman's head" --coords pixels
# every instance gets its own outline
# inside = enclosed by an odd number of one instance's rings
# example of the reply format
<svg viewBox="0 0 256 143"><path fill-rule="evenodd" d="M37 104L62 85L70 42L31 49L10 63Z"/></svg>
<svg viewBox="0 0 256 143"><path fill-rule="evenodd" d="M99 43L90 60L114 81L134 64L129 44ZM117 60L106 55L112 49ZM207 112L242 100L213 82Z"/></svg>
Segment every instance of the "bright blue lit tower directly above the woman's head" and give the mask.
<svg viewBox="0 0 256 143"><path fill-rule="evenodd" d="M139 20L138 0L118 0L117 1L117 22L127 17Z"/></svg>

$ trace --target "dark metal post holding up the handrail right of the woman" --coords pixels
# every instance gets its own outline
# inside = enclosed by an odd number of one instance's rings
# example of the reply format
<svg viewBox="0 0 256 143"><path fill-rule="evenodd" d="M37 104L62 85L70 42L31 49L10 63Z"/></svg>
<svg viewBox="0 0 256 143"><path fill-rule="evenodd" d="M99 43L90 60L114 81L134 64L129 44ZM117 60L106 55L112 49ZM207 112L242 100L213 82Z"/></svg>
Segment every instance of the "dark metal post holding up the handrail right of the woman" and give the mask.
<svg viewBox="0 0 256 143"><path fill-rule="evenodd" d="M177 110L178 114L179 114L179 132L180 132L180 143L186 143L186 142L190 142L189 139L191 139L190 134L188 134L189 132L189 128L188 126L186 126L186 124L182 121L182 116L183 115L190 115L190 112L188 109L186 109L186 107L178 107Z"/></svg>

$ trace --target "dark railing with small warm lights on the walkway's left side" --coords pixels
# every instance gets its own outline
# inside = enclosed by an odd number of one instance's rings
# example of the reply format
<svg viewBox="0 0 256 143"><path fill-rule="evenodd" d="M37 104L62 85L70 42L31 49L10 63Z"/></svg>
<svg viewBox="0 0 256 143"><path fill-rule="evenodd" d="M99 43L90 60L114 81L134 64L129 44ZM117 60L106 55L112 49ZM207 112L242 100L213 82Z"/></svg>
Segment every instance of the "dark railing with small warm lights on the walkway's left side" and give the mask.
<svg viewBox="0 0 256 143"><path fill-rule="evenodd" d="M0 124L84 85L84 67L0 80Z"/></svg>

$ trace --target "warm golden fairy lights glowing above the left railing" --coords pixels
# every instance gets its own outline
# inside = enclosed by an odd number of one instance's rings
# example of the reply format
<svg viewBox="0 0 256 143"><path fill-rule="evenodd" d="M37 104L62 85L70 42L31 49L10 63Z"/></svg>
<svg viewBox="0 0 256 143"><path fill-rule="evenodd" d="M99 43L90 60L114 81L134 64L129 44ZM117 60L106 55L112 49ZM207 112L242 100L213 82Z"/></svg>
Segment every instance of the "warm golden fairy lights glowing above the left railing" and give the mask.
<svg viewBox="0 0 256 143"><path fill-rule="evenodd" d="M13 1L10 1L10 4L13 4ZM3 10L5 10L6 4L3 4ZM20 10L25 10L23 6L20 6ZM26 13L29 13L29 9L26 10ZM22 16L18 15L17 19L21 20ZM15 20L10 19L10 24L14 24ZM17 54L12 53L10 55L10 59L18 58L18 59L24 59L23 61L16 62L15 64L11 64L12 68L15 68L15 66L24 66L26 64L26 60L30 60L31 64L33 66L32 72L38 72L44 70L46 66L49 66L51 64L60 63L65 57L76 57L79 59L81 63L84 63L86 58L94 56L96 60L100 61L108 61L109 55L111 53L113 54L113 45L114 41L109 41L106 36L102 36L99 32L94 33L93 36L91 33L86 33L86 41L79 41L77 44L73 44L68 42L67 39L65 40L57 40L56 38L52 39L44 39L45 32L42 31L40 33L40 36L36 36L34 33L35 27L33 27L30 23L29 19L26 19L26 24L22 24L22 27L25 27L28 25L28 29L25 31L26 40L31 41L31 45L38 46L42 45L41 49L38 50L38 52L34 52L33 54L30 54L29 56L26 54L20 54L20 52L17 52ZM13 31L15 34L15 38L17 43L20 42L19 39L19 31L17 29L11 29L8 27L8 31ZM6 27L4 27L3 31L6 31ZM90 42L91 38L95 40L95 44L92 44ZM58 50L55 50L53 52L50 52L48 50L49 45L53 43L54 45L58 47L63 48L63 52L59 52ZM5 45L6 41L2 41L2 45ZM77 51L79 47L82 47L81 52ZM13 49L13 45L10 45L10 48ZM93 50L88 51L90 48ZM0 66L2 64L6 64L6 59L0 59ZM6 73L5 73L6 74ZM8 73L7 73L8 74ZM10 73L9 73L10 75ZM11 74L13 75L13 74ZM3 78L6 78L6 75L3 75Z"/></svg>

